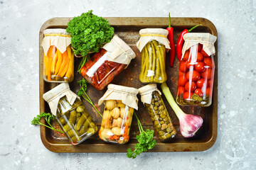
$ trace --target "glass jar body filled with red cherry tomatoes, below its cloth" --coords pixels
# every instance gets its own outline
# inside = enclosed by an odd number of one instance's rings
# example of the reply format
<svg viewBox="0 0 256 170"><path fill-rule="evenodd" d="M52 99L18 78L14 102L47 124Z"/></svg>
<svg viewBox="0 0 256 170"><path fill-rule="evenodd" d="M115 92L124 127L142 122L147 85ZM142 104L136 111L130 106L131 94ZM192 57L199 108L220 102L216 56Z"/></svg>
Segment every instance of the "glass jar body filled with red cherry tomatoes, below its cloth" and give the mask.
<svg viewBox="0 0 256 170"><path fill-rule="evenodd" d="M180 105L210 106L213 97L213 55L200 43L186 50L179 65L176 101Z"/></svg>

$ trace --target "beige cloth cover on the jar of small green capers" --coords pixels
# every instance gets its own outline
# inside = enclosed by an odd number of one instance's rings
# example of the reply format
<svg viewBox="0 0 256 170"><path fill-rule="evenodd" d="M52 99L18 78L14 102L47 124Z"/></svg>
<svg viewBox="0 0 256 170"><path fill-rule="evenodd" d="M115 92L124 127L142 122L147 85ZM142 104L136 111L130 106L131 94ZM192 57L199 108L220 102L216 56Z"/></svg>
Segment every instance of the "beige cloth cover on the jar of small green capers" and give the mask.
<svg viewBox="0 0 256 170"><path fill-rule="evenodd" d="M142 103L151 103L153 91L158 91L161 95L161 91L157 89L156 84L147 84L146 86L142 86L141 88L139 88L139 94L141 95Z"/></svg>

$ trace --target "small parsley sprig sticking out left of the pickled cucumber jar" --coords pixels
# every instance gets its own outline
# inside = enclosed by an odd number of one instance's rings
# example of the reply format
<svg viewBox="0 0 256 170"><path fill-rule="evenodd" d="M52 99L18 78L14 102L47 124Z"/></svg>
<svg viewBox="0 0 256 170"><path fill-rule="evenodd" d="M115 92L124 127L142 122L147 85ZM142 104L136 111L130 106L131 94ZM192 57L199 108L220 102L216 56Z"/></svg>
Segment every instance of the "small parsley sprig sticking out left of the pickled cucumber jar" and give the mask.
<svg viewBox="0 0 256 170"><path fill-rule="evenodd" d="M45 125L45 124L41 123L40 122L41 118L44 118L46 120L46 122L48 123L48 125ZM36 115L36 117L33 118L33 120L31 121L31 125L44 125L47 128L50 128L52 130L56 130L58 132L64 133L63 131L57 130L57 129L53 128L52 125L50 125L50 120L54 120L54 119L55 119L54 115L51 115L50 113L43 113L42 112L42 113L40 113L40 115Z"/></svg>

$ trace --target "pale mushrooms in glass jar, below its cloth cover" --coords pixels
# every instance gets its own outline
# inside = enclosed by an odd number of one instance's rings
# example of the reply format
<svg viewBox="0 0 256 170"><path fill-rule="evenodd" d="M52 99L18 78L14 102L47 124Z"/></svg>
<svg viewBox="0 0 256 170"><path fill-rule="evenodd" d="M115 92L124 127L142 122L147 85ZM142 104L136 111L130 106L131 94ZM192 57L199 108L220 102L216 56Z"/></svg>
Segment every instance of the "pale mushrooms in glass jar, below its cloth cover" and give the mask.
<svg viewBox="0 0 256 170"><path fill-rule="evenodd" d="M107 100L105 102L102 125L99 130L100 139L115 144L127 143L134 108L130 108L122 101Z"/></svg>

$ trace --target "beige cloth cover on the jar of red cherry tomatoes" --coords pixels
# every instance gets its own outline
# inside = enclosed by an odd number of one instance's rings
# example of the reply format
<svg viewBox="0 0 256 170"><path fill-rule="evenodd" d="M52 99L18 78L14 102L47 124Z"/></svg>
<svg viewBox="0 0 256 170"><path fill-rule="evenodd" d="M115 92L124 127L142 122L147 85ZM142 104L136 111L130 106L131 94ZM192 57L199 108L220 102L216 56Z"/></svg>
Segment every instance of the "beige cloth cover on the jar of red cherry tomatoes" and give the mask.
<svg viewBox="0 0 256 170"><path fill-rule="evenodd" d="M215 55L214 42L217 40L217 37L214 35L211 35L210 33L186 33L183 38L185 42L182 48L181 59L188 48L198 43L203 45L203 50L207 53L207 55Z"/></svg>

